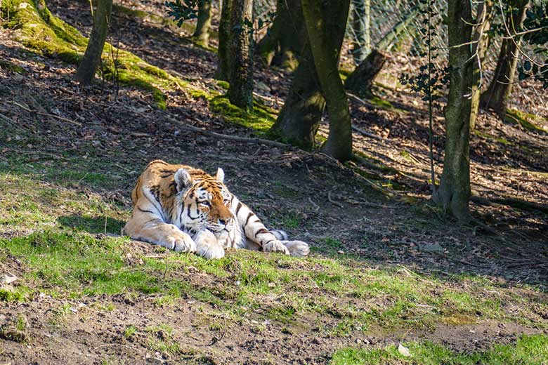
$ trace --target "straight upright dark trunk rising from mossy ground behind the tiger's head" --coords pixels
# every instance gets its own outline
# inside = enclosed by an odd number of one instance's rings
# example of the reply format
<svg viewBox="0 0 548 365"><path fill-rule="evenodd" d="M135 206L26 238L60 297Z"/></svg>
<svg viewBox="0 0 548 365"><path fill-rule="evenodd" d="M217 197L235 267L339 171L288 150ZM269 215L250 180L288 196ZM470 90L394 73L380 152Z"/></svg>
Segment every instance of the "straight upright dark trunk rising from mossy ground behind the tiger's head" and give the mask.
<svg viewBox="0 0 548 365"><path fill-rule="evenodd" d="M228 99L244 110L253 109L253 0L234 0L231 14Z"/></svg>

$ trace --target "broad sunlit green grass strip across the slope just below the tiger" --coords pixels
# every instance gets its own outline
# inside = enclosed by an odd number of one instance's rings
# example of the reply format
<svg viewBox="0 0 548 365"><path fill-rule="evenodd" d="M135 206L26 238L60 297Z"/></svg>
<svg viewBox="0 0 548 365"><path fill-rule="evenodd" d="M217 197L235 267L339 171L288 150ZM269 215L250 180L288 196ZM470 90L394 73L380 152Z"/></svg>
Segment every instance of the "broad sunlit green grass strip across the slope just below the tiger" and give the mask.
<svg viewBox="0 0 548 365"><path fill-rule="evenodd" d="M334 239L326 244L332 250L340 248ZM326 329L337 336L371 326L386 331L431 327L458 316L470 321L500 319L546 325L537 313L547 310L547 304L535 303L535 311L523 303L516 306L517 298L500 288L495 291L489 281L462 279L451 285L419 274L409 277L396 268L364 270L363 262L348 258L301 260L251 251L204 260L157 247L161 258L143 255L138 265L126 262L126 245L124 238L98 239L59 229L0 240L0 249L29 268L21 284L33 283L53 296L155 294L159 306L190 297L234 318L259 310L267 318L289 323L301 315L317 313L334 320ZM191 280L195 274L188 267L210 279Z"/></svg>

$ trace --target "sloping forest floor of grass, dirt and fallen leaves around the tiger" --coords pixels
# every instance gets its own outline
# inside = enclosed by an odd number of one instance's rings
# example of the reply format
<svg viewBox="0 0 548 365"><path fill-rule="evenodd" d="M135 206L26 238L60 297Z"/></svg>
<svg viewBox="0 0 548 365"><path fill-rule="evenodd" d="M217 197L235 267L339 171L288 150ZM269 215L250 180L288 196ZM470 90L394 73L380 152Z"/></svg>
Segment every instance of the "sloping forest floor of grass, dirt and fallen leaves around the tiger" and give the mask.
<svg viewBox="0 0 548 365"><path fill-rule="evenodd" d="M46 2L89 34L85 1ZM480 115L477 223L460 226L428 202L428 118L419 95L396 86L403 58L389 62L377 98L351 98L355 126L378 138L355 133L369 163L341 165L185 129L266 138L290 77L257 67L256 109L245 114L212 79L214 51L162 21L163 1L115 3L113 43L141 58L120 55L119 72L134 79L119 85L72 81L67 54L81 45L60 23L36 21L55 29L32 37L16 16L0 28L1 362L545 364L539 95L527 95L535 115L517 124ZM441 173L441 112L434 131ZM269 227L308 241L311 257L230 251L207 261L117 236L152 159L222 167L230 190Z"/></svg>

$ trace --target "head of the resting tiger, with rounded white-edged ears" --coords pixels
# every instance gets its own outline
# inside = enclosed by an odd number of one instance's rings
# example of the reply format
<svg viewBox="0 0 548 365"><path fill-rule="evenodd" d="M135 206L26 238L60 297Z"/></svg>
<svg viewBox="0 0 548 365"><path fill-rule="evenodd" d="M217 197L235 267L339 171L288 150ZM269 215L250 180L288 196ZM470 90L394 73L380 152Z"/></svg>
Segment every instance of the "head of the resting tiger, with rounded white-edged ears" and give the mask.
<svg viewBox="0 0 548 365"><path fill-rule="evenodd" d="M230 212L231 194L223 184L224 172L217 169L215 177L179 168L174 182L179 194L181 226L190 230L210 230L215 234L233 229L235 220Z"/></svg>

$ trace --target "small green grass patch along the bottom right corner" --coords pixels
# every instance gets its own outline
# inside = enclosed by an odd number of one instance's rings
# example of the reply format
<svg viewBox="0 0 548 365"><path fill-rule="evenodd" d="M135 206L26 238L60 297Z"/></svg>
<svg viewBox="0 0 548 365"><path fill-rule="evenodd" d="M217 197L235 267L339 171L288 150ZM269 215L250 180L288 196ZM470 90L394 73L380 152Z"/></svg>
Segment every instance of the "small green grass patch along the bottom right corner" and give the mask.
<svg viewBox="0 0 548 365"><path fill-rule="evenodd" d="M521 336L511 345L493 345L479 352L455 352L431 342L405 344L411 356L398 352L398 346L383 349L361 350L347 348L335 352L330 365L476 365L476 364L546 364L548 336Z"/></svg>

